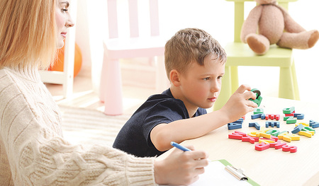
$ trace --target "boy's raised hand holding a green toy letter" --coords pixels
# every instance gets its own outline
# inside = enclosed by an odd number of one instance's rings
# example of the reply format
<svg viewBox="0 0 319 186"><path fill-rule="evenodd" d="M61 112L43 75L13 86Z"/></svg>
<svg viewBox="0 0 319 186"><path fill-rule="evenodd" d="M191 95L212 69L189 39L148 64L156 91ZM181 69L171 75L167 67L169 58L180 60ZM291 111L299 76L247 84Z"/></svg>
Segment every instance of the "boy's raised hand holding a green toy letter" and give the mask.
<svg viewBox="0 0 319 186"><path fill-rule="evenodd" d="M240 117L246 115L247 112L252 112L255 107L258 107L256 103L249 100L250 98L256 99L256 94L250 90L250 86L241 85L220 109L228 115L230 122L238 120Z"/></svg>

